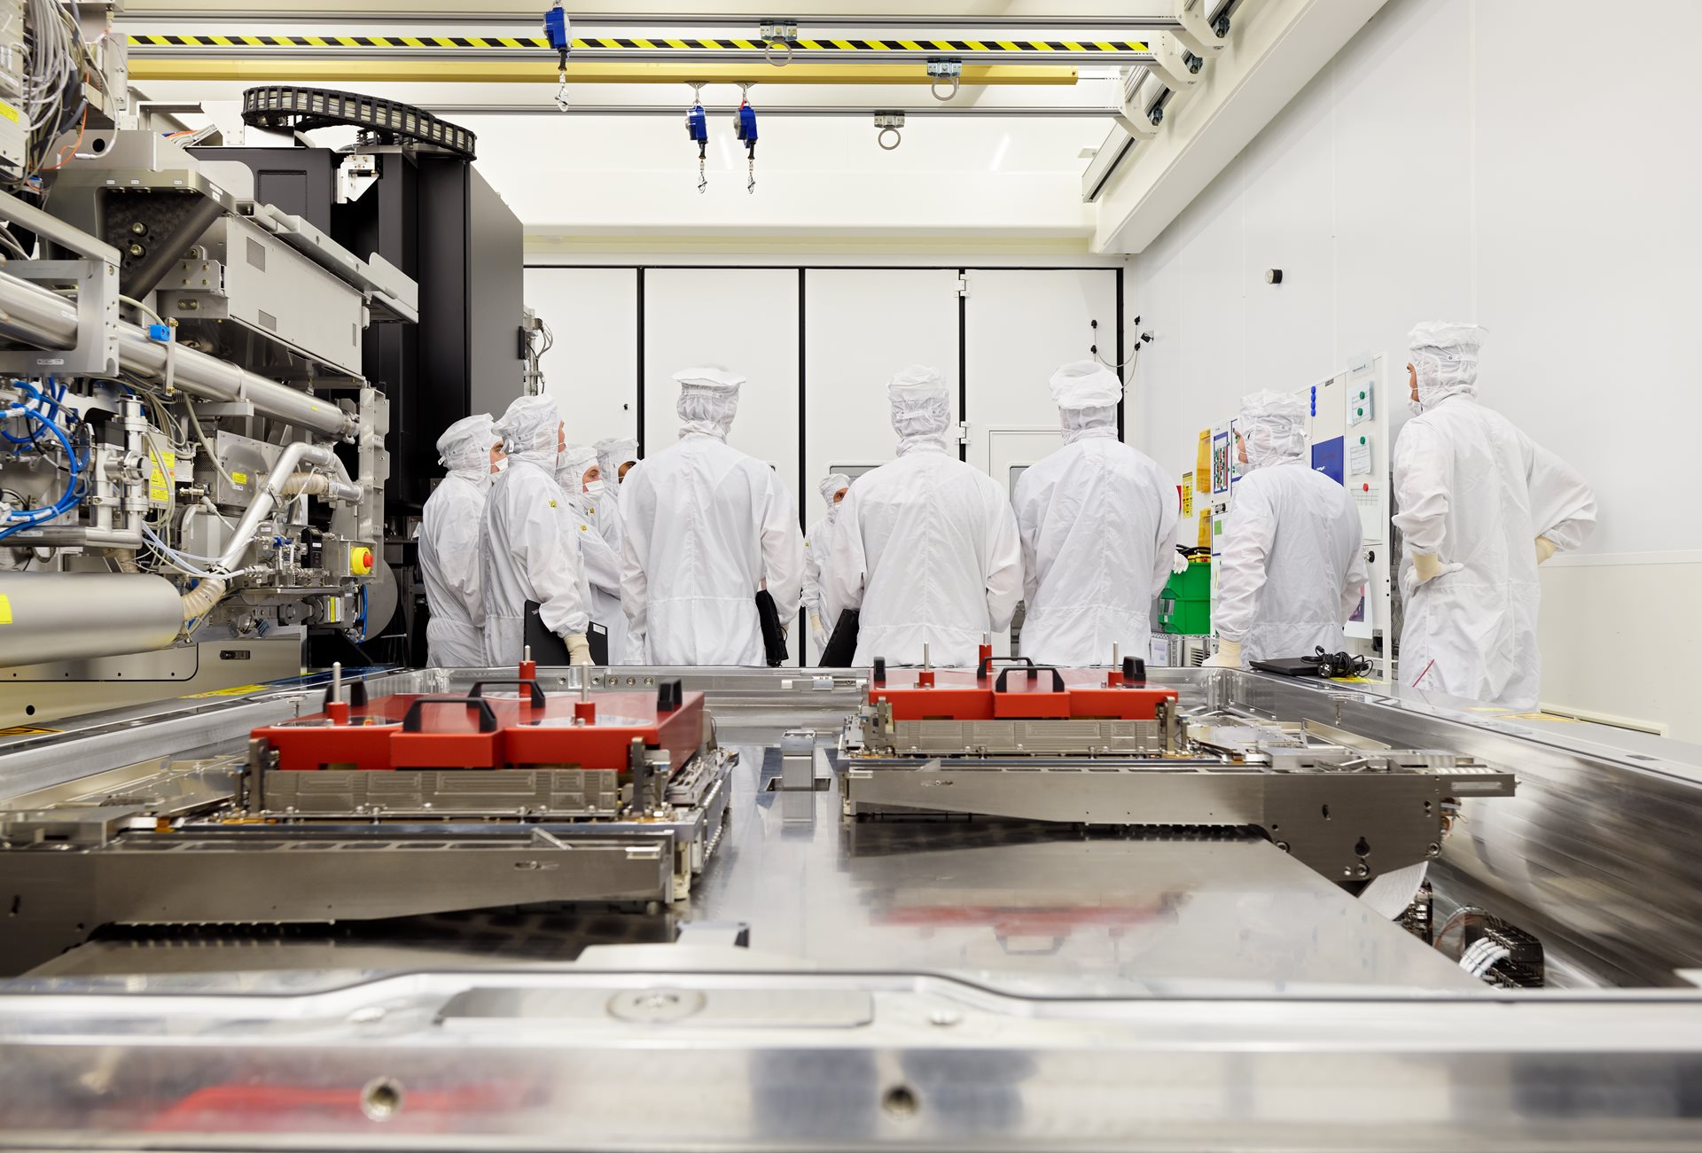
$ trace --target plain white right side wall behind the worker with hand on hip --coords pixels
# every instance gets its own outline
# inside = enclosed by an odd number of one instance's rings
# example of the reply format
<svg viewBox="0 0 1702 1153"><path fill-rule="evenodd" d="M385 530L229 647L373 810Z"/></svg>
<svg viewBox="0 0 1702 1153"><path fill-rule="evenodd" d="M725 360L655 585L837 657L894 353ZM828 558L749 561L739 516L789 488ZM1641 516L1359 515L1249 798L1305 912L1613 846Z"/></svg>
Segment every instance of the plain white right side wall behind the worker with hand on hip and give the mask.
<svg viewBox="0 0 1702 1153"><path fill-rule="evenodd" d="M1399 364L1418 320L1486 325L1481 398L1600 500L1586 549L1544 570L1544 701L1702 740L1697 658L1639 667L1702 651L1702 515L1673 442L1702 427L1682 347L1702 163L1678 129L1702 85L1659 54L1585 77L1568 61L1598 19L1585 0L1391 0L1135 258L1127 310L1154 344L1132 439L1179 473L1241 393L1360 352ZM1637 22L1688 43L1702 5L1653 0Z"/></svg>

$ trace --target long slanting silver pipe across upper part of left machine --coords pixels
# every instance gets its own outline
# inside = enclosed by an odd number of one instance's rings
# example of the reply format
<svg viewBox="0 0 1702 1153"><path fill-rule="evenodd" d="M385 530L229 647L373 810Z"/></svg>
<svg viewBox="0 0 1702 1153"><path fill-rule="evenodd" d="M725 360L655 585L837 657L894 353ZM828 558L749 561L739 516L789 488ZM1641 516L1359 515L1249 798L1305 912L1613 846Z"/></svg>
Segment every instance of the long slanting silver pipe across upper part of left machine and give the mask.
<svg viewBox="0 0 1702 1153"><path fill-rule="evenodd" d="M37 349L70 349L77 344L77 304L56 293L0 272L0 337ZM255 412L298 429L330 437L354 435L359 420L320 396L296 391L277 381L237 367L196 349L148 340L148 333L117 321L119 366L138 376L165 379L170 355L175 388L203 400L245 400Z"/></svg>

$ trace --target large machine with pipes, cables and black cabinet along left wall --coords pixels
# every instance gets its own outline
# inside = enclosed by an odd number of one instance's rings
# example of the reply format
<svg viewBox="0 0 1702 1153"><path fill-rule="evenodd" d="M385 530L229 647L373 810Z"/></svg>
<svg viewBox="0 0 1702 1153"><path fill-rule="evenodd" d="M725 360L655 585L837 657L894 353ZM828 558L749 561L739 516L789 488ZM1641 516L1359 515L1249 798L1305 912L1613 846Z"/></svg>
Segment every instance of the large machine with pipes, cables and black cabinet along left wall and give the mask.
<svg viewBox="0 0 1702 1153"><path fill-rule="evenodd" d="M129 99L111 5L12 9L41 82L0 133L0 726L408 662L431 444L528 383L471 133L274 85L248 124L359 139L218 146Z"/></svg>

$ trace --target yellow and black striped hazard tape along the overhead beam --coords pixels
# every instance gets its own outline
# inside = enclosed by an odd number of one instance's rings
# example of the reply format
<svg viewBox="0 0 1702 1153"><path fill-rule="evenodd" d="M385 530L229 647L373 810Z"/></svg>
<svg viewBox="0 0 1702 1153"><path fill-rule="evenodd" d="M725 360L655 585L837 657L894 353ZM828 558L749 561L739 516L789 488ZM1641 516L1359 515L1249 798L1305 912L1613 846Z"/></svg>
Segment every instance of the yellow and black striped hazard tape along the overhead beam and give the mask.
<svg viewBox="0 0 1702 1153"><path fill-rule="evenodd" d="M129 48L378 48L378 49L540 49L550 51L550 41L541 36L172 36L145 32L128 36ZM596 49L643 49L643 51L749 51L768 49L764 41L751 39L638 39L638 37L587 37L575 39L570 51ZM810 53L953 53L967 56L1004 56L1004 54L1084 54L1096 53L1145 53L1151 51L1140 41L791 41L790 48L798 56Z"/></svg>

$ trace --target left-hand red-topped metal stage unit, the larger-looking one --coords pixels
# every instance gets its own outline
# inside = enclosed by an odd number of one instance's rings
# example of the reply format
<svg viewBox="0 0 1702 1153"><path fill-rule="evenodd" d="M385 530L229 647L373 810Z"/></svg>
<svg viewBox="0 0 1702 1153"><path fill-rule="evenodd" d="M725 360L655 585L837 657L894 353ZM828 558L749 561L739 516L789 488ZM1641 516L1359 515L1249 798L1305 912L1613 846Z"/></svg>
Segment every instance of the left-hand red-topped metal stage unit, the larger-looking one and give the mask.
<svg viewBox="0 0 1702 1153"><path fill-rule="evenodd" d="M720 843L737 755L677 680L592 697L575 675L575 692L550 692L528 662L453 694L368 696L334 667L320 707L257 724L242 753L14 798L0 843L20 850L3 869L17 932L0 964L112 923L684 900Z"/></svg>

